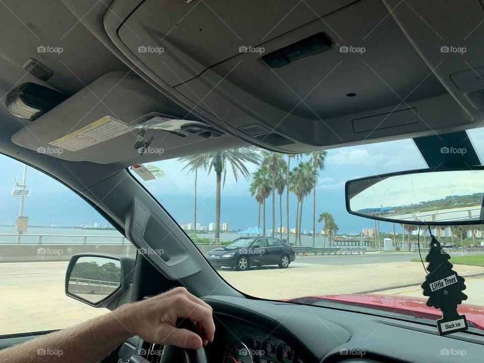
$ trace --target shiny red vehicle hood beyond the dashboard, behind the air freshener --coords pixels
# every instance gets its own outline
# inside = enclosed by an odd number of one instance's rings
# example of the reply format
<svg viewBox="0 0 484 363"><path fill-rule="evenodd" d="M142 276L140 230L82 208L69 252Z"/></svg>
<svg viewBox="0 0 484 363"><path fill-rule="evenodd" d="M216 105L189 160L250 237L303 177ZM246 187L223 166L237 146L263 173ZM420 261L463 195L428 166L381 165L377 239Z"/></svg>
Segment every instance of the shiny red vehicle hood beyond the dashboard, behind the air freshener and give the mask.
<svg viewBox="0 0 484 363"><path fill-rule="evenodd" d="M380 295L380 294L346 294L346 295L322 295L298 297L289 302L299 304L316 304L334 300L343 304L373 308L388 312L405 314L422 319L437 320L442 317L442 312L426 305L427 299L422 297L401 296L401 295ZM459 314L464 314L469 326L484 330L484 307L471 304L462 304L457 307Z"/></svg>

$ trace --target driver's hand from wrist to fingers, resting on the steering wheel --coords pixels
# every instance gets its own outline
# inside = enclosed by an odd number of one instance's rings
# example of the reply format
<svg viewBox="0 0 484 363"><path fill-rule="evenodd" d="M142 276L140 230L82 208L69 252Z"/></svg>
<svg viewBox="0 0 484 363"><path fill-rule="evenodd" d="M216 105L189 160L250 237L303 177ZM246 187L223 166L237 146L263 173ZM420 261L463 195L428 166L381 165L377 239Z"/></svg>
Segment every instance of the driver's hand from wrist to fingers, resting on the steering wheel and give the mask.
<svg viewBox="0 0 484 363"><path fill-rule="evenodd" d="M215 325L212 308L184 287L125 305L113 312L133 335L150 343L199 349L213 341ZM196 323L200 336L175 328L177 318L189 318Z"/></svg>

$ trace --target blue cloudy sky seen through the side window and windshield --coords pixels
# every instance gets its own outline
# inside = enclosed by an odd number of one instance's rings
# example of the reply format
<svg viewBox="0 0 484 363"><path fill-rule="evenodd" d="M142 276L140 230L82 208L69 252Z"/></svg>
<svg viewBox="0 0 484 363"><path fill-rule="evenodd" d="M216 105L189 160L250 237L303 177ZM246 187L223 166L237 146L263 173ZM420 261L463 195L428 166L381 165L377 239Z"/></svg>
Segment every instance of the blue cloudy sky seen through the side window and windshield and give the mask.
<svg viewBox="0 0 484 363"><path fill-rule="evenodd" d="M470 132L480 155L484 155L484 129ZM306 160L308 157L303 157ZM19 197L11 196L15 187L14 173L21 180L23 164L0 155L2 164L0 178L0 224L12 225L19 212ZM163 178L147 183L148 190L165 207L179 224L193 222L194 176L181 170L183 164L177 159L156 163L165 173ZM294 166L291 159L291 168ZM256 165L248 165L251 172ZM371 219L350 215L345 209L344 184L347 180L381 173L425 168L412 140L397 140L363 146L328 150L326 168L320 172L316 189L316 213L330 212L339 226L340 233L359 233L362 228L374 227ZM230 229L238 230L257 225L258 204L249 192L250 181L227 174L221 196L221 222L228 222ZM80 226L108 223L74 192L40 171L28 167L27 186L31 196L25 198L24 215L30 225ZM198 177L197 222L208 225L215 221L215 174L201 171ZM296 200L289 200L289 226L294 227ZM285 222L285 194L282 201L283 225ZM266 228L271 227L271 198L266 202ZM312 230L312 195L305 200L302 214L302 230ZM279 225L279 203L276 195L276 227ZM323 223L316 223L320 231ZM380 229L390 231L391 224L380 222Z"/></svg>

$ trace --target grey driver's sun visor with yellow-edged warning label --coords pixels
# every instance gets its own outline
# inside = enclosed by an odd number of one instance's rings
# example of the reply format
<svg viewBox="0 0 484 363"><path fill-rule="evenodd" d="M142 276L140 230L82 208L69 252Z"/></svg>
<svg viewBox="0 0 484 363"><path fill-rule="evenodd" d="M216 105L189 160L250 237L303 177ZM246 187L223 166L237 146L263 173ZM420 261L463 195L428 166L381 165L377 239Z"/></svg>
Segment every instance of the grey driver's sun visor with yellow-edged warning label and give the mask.
<svg viewBox="0 0 484 363"><path fill-rule="evenodd" d="M153 154L162 159L172 148L223 135L140 77L112 72L25 126L12 141L64 160L107 164Z"/></svg>

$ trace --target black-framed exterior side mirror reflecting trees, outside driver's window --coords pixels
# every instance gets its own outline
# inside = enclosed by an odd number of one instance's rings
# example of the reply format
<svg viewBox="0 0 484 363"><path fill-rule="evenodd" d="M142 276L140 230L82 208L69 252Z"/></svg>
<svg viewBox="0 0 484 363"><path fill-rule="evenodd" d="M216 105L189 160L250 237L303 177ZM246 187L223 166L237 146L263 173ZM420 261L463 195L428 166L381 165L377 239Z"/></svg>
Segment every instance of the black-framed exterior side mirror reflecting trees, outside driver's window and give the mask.
<svg viewBox="0 0 484 363"><path fill-rule="evenodd" d="M67 268L66 295L95 308L114 310L130 301L134 266L135 259L125 256L74 255Z"/></svg>

